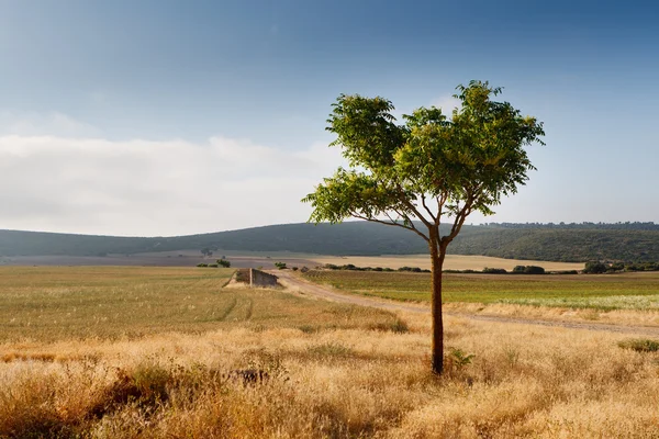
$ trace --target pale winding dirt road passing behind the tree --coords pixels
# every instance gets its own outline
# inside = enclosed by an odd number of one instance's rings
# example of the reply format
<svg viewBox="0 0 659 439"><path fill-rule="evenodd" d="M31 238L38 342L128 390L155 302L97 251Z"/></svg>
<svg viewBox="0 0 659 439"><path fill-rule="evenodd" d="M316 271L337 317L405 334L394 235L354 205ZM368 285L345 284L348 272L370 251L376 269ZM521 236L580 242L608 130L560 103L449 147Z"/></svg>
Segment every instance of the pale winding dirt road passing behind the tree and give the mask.
<svg viewBox="0 0 659 439"><path fill-rule="evenodd" d="M405 311L412 313L429 314L431 309L428 305L422 304L410 304L404 302L394 302L380 299L365 297L355 294L339 293L332 288L319 285L316 283L309 282L301 279L300 277L287 272L287 271L272 271L280 282L292 292L297 292L304 296L311 296L316 299L323 299L332 302L350 303L354 305L361 306L373 306L381 309L388 311ZM581 323L581 322L563 322L563 320L541 320L533 318L520 318L520 317L505 317L505 316L488 316L488 315L474 315L466 313L445 312L445 315L469 318L472 320L483 322L496 322L496 323L514 323L522 325L537 325L537 326L549 326L549 327L562 327L570 329L584 329L595 331L607 331L618 334L634 334L638 336L652 336L659 337L659 327L651 326L623 326L623 325L608 325L600 323Z"/></svg>

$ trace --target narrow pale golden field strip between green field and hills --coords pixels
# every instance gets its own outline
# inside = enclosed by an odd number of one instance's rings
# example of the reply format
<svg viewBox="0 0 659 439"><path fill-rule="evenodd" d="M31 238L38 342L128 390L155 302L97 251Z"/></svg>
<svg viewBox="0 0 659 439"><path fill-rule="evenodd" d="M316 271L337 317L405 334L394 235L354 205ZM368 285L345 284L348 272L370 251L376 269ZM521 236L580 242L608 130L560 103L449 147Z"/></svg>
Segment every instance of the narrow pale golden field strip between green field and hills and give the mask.
<svg viewBox="0 0 659 439"><path fill-rule="evenodd" d="M357 267L382 267L398 269L401 267L431 268L428 255L399 255L399 256L310 256L309 259L317 263L334 263L345 266L353 263ZM540 266L547 271L583 270L582 262L548 262L517 259L491 258L488 256L448 255L444 260L444 270L477 270L485 267L504 268L511 271L515 266Z"/></svg>

